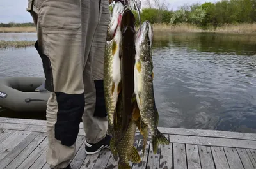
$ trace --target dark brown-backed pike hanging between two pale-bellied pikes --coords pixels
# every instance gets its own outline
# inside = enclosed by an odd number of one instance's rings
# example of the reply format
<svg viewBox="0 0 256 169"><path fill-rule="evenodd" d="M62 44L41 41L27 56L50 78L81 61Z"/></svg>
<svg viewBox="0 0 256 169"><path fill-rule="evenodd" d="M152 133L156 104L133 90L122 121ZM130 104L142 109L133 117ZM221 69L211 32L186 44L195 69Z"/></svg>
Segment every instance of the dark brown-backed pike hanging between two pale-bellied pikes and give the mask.
<svg viewBox="0 0 256 169"><path fill-rule="evenodd" d="M124 10L121 21L122 32L122 132L125 133L132 117L132 94L134 92L134 64L135 64L135 17L129 8Z"/></svg>

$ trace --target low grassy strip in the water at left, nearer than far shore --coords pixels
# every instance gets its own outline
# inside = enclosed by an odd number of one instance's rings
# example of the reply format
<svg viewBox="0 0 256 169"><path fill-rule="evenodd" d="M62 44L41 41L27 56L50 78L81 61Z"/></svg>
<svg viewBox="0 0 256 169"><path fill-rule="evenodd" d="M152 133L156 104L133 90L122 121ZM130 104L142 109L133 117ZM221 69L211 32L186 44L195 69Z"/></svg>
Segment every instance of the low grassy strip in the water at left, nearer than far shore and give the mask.
<svg viewBox="0 0 256 169"><path fill-rule="evenodd" d="M4 41L0 40L1 48L24 48L35 45L35 41Z"/></svg>

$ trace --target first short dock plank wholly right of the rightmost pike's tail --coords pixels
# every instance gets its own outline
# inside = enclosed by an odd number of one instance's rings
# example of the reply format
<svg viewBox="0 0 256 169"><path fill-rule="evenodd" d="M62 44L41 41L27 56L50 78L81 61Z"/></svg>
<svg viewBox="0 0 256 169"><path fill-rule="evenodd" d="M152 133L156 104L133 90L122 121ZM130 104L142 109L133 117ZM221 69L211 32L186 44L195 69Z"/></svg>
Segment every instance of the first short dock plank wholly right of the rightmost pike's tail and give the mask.
<svg viewBox="0 0 256 169"><path fill-rule="evenodd" d="M186 147L183 143L173 143L173 163L175 169L186 169Z"/></svg>

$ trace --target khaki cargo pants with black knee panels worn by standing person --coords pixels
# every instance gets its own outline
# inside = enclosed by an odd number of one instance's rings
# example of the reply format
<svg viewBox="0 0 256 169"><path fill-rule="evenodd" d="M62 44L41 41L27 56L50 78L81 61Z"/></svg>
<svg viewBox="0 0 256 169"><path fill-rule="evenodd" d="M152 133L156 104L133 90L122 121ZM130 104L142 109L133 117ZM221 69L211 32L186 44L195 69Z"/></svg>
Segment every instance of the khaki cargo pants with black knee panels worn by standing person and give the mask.
<svg viewBox="0 0 256 169"><path fill-rule="evenodd" d="M106 136L103 62L109 21L107 0L29 0L37 30L36 50L42 59L47 102L51 168L65 168L74 158L79 122L86 140Z"/></svg>

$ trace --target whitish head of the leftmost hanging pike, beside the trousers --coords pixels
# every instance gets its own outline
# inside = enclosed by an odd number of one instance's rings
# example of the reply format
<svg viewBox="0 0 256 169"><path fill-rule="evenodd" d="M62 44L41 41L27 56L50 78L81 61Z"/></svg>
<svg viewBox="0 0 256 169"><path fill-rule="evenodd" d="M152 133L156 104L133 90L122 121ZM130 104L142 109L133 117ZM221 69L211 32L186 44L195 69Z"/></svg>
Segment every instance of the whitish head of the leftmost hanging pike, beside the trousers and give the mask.
<svg viewBox="0 0 256 169"><path fill-rule="evenodd" d="M123 12L124 12L124 6L120 1L118 1L117 3L115 3L113 11L110 15L110 20L108 25L108 38L107 38L108 41L113 39L113 37L115 36L116 29L121 24Z"/></svg>

